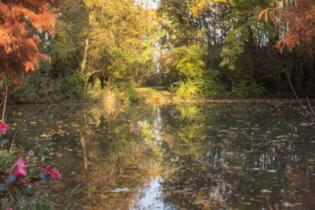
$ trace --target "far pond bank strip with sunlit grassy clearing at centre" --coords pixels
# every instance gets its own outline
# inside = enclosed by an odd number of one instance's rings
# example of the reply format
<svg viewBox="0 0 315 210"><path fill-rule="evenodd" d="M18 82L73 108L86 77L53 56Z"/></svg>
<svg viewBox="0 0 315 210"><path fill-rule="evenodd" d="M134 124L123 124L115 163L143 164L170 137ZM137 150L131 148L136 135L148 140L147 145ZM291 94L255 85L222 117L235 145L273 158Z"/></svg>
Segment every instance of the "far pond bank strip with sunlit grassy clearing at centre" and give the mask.
<svg viewBox="0 0 315 210"><path fill-rule="evenodd" d="M281 104L296 104L297 99L295 98L279 98L279 97L251 97L251 98L241 98L241 97L217 97L212 99L206 98L181 98L176 95L175 92L172 92L167 87L137 87L134 89L134 96L132 99L124 99L121 95L123 92L116 92L117 95L115 100L111 98L107 101L106 96L102 97L102 94L106 92L99 92L97 100L90 99L89 97L83 97L83 99L63 99L63 100L49 100L49 99L34 99L34 100L25 100L19 101L17 99L8 99L8 104L130 104L130 103L139 103L139 104L179 104L179 103L253 103L261 102L267 103L274 106L281 106ZM301 98L301 101L304 103L304 106L307 105L305 99ZM310 99L311 104L315 104L315 99Z"/></svg>

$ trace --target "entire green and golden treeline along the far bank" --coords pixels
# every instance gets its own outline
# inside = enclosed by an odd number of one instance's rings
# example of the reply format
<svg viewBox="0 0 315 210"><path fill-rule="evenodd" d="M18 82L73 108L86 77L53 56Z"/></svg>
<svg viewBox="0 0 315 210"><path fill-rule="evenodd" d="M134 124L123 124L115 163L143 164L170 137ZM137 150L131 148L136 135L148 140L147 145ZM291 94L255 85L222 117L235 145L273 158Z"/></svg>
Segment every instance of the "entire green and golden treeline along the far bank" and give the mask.
<svg viewBox="0 0 315 210"><path fill-rule="evenodd" d="M181 97L292 95L287 73L298 94L314 96L314 5L160 0L153 9L133 0L59 1L51 4L55 32L35 34L50 60L12 96L34 101L125 92L133 100L137 85L164 85Z"/></svg>

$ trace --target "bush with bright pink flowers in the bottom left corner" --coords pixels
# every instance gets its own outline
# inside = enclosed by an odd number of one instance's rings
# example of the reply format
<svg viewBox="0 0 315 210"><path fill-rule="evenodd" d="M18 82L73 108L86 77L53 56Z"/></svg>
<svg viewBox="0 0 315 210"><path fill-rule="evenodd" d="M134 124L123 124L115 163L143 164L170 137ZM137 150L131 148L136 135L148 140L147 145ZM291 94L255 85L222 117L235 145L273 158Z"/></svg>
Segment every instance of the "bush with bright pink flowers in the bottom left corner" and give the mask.
<svg viewBox="0 0 315 210"><path fill-rule="evenodd" d="M1 123L0 136L6 134L7 130L6 123ZM2 148L5 141L0 143ZM14 151L0 150L0 176L9 173L5 180L0 181L0 209L55 209L55 206L59 206L48 199L49 188L39 188L41 185L49 187L53 180L59 181L61 174L57 168L45 167L38 172L38 175L36 169L31 169L29 173L28 169L31 167L22 158L13 165L14 153ZM69 199L66 200L64 207L67 202Z"/></svg>

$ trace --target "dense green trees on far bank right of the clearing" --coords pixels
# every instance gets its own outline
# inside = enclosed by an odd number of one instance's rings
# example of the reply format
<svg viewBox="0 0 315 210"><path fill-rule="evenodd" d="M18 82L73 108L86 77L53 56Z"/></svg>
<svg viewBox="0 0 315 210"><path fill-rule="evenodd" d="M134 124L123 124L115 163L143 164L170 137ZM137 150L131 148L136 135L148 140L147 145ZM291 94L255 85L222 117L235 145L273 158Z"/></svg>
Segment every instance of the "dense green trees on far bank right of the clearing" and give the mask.
<svg viewBox="0 0 315 210"><path fill-rule="evenodd" d="M293 21L302 15L302 20L309 18L307 25L302 21L275 24L283 16L274 9L285 14L294 8L300 13L290 13ZM262 11L265 14L260 15ZM315 90L314 1L161 0L158 15L167 20L162 22L167 50L160 57L169 79L165 83L175 84L181 94L283 93L290 90L287 72L300 94ZM294 27L304 29L301 36L304 33L310 39L296 37L299 31L294 31L295 37L286 36ZM279 43L283 38L286 42ZM293 43L300 41L304 43Z"/></svg>

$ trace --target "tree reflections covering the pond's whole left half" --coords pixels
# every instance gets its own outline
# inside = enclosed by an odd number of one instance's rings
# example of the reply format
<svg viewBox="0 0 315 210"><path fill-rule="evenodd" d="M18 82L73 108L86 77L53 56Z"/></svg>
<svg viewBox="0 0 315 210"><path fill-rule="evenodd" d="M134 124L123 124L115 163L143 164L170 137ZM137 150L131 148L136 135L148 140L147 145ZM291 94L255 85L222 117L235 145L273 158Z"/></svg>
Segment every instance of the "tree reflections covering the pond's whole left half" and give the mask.
<svg viewBox="0 0 315 210"><path fill-rule="evenodd" d="M78 195L78 207L129 209L137 206L151 177L157 176L158 166L152 160L153 148L147 148L139 135L137 121L150 117L151 106L22 106L13 113L20 125L19 139L25 148L41 144L41 134L52 135L50 153L62 172L62 189L69 194L77 183L86 186ZM23 113L23 115L18 113ZM30 122L36 126L29 126ZM33 125L33 124L31 124ZM22 138L24 137L24 138ZM29 146L28 146L29 144ZM48 154L46 154L48 155ZM128 188L125 193L111 193L116 188Z"/></svg>

